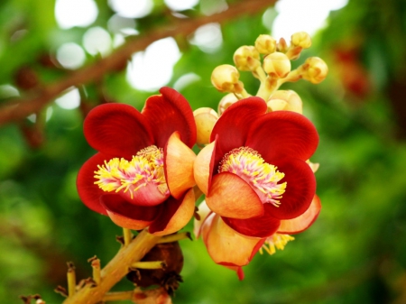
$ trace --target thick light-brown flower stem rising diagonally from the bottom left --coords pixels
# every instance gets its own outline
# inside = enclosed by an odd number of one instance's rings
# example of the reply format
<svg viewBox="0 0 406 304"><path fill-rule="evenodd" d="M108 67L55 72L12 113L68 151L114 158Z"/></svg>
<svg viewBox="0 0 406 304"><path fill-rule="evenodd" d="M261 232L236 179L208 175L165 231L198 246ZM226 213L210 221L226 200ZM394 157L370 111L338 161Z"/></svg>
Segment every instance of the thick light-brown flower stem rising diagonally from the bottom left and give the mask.
<svg viewBox="0 0 406 304"><path fill-rule="evenodd" d="M95 304L101 301L106 292L127 274L130 265L140 261L159 239L160 236L151 235L146 231L141 232L130 244L123 246L103 268L97 286L86 284L72 297L65 299L63 304Z"/></svg>

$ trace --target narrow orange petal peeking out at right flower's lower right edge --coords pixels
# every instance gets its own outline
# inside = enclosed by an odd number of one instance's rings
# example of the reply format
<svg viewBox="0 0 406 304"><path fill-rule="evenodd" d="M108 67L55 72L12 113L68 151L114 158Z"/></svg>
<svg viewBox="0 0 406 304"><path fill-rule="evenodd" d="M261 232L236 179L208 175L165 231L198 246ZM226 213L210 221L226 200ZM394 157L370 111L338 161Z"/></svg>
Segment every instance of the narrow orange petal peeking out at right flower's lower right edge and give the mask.
<svg viewBox="0 0 406 304"><path fill-rule="evenodd" d="M278 229L278 234L294 235L306 230L311 226L320 213L321 203L317 195L311 201L310 207L301 216L281 220L281 226Z"/></svg>

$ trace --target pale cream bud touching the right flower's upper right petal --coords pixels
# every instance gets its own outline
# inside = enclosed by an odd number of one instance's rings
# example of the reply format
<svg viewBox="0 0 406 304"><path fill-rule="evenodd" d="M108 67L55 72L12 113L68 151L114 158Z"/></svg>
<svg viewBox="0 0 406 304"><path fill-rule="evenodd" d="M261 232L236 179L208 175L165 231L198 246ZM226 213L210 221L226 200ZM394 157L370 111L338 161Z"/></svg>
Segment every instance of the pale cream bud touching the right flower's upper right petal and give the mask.
<svg viewBox="0 0 406 304"><path fill-rule="evenodd" d="M302 114L302 102L299 95L292 90L278 90L266 102L268 112L292 111Z"/></svg>

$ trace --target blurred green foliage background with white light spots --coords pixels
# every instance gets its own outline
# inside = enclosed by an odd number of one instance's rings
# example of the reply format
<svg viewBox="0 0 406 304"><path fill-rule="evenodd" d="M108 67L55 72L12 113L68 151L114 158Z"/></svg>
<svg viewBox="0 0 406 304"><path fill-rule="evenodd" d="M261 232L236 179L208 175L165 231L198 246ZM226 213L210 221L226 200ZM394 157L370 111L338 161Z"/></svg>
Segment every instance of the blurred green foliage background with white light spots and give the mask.
<svg viewBox="0 0 406 304"><path fill-rule="evenodd" d="M125 1L3 0L0 106L43 95L50 84L97 65L157 26L240 4L184 2L189 6L134 1L136 7L125 9ZM320 163L323 208L317 222L284 251L257 254L244 268L244 281L213 263L200 240L181 241L184 282L173 301L406 303L406 2L332 1L329 10L324 2L281 0L274 7L269 1L258 14L240 12L161 41L135 54L127 69L77 83L70 96L0 125L0 301L21 303L19 295L40 293L47 303L60 303L53 289L66 286L66 262L75 263L78 279L87 278L88 258L97 254L104 265L119 248L121 229L85 207L76 191L78 169L94 153L82 134L88 108L116 101L141 109L163 85L179 89L193 109L217 108L223 95L210 83L217 65L233 64L236 48L254 44L259 34L279 39L292 25L307 30L324 9L328 19L311 32L312 47L294 65L321 57L328 78L282 87L300 94L304 114L318 127L312 161ZM256 80L241 77L254 94ZM131 286L124 281L115 290Z"/></svg>

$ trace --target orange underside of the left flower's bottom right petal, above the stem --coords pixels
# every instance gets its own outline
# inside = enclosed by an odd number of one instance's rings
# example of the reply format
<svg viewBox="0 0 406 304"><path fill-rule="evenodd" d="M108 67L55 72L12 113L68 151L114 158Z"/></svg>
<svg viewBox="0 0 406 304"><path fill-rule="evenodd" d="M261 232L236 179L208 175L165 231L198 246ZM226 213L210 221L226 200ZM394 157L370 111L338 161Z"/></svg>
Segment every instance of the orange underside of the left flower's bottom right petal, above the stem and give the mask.
<svg viewBox="0 0 406 304"><path fill-rule="evenodd" d="M152 233L152 235L171 235L181 228L186 226L189 223L190 218L193 216L195 212L195 193L193 189L189 189L186 192L182 202L180 203L180 207L176 210L176 212L171 216L170 221L163 229L153 229L156 230ZM156 220L158 222L160 218ZM157 223L159 226L159 223ZM150 226L151 229L151 226ZM151 232L151 231L150 231Z"/></svg>

